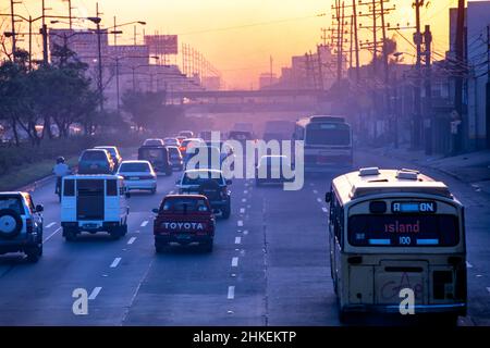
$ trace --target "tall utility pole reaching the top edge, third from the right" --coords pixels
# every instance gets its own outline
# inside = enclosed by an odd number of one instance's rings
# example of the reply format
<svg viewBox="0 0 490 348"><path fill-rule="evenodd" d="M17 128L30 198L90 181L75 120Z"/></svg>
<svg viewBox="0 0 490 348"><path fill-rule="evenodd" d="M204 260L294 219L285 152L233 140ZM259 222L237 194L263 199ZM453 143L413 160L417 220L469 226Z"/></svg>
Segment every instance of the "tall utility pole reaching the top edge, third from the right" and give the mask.
<svg viewBox="0 0 490 348"><path fill-rule="evenodd" d="M413 120L413 134L412 134L412 148L416 149L420 147L421 142L421 97L420 97L420 67L421 67L421 44L422 44L422 35L420 33L420 8L424 5L424 0L415 0L415 34L414 34L414 44L417 48L417 57L415 63L416 77L415 77L415 87L414 87L414 103L415 103L415 113Z"/></svg>

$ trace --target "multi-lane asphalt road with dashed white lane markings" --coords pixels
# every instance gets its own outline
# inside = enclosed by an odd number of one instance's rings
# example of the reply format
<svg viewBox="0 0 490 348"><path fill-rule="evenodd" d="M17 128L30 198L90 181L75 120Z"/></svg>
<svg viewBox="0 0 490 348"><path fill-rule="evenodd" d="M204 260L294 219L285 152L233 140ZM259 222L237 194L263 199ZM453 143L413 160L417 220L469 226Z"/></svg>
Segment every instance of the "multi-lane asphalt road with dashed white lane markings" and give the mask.
<svg viewBox="0 0 490 348"><path fill-rule="evenodd" d="M355 162L413 167L368 152L356 152ZM490 325L490 196L425 172L466 206L469 311L460 324ZM132 195L128 234L117 241L100 234L65 243L53 183L39 187L44 257L37 264L0 257L0 325L340 325L323 202L332 175L309 177L298 191L235 179L232 214L218 221L212 253L187 247L156 254L151 209L175 189L177 175L159 178L155 196ZM89 294L87 315L72 312L75 288Z"/></svg>

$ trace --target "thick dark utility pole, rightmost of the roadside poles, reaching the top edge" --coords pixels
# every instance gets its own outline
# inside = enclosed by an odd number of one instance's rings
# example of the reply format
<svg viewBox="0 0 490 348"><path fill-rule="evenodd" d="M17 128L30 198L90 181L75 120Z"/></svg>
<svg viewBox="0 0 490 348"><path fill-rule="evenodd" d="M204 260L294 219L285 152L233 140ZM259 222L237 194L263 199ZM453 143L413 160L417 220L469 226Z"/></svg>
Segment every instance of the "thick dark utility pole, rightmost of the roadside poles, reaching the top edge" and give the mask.
<svg viewBox="0 0 490 348"><path fill-rule="evenodd" d="M464 59L464 37L465 37L465 0L457 1L457 21L456 21L456 63L463 65ZM461 71L461 70L460 70ZM453 145L453 152L460 152L462 150L462 133L463 133L463 77L462 74L456 75L455 90L454 90L454 107L458 114L460 127L454 137L455 144Z"/></svg>

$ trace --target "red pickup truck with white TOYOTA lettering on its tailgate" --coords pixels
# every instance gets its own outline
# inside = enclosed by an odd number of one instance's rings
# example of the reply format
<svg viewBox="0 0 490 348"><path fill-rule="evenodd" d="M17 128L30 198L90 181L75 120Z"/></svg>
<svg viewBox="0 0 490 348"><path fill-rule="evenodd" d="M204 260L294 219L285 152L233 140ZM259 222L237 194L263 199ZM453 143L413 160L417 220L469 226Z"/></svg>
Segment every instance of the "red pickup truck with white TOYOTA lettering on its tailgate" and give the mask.
<svg viewBox="0 0 490 348"><path fill-rule="evenodd" d="M154 221L157 252L171 243L198 243L205 251L212 251L216 221L206 196L168 195L154 212L157 214Z"/></svg>

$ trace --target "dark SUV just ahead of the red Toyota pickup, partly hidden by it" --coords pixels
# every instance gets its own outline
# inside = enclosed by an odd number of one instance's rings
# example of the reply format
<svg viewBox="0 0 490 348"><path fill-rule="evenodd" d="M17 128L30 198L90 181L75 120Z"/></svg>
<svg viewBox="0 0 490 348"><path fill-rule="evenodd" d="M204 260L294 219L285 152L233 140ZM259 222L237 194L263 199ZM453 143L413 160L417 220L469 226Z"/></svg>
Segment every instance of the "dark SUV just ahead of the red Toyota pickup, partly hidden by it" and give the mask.
<svg viewBox="0 0 490 348"><path fill-rule="evenodd" d="M188 170L176 181L180 194L194 194L206 196L213 211L220 211L223 219L231 213L231 192L228 185L231 179L224 179L223 173L218 170Z"/></svg>

